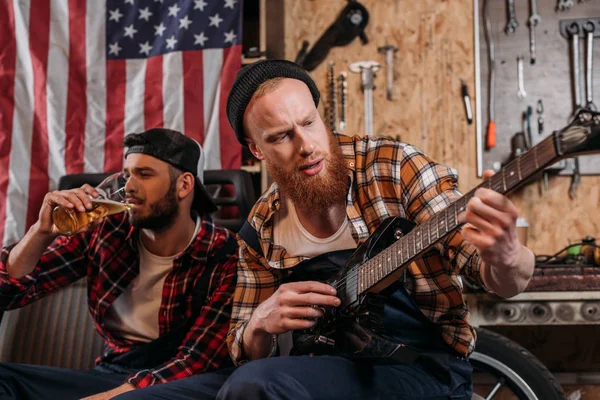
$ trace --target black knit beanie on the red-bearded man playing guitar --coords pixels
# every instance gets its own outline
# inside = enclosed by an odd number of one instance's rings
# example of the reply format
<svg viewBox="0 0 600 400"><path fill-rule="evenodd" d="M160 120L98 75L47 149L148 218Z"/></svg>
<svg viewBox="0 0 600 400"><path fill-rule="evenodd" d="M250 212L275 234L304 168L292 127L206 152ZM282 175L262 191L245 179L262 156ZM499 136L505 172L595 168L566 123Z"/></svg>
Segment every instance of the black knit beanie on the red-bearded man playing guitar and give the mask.
<svg viewBox="0 0 600 400"><path fill-rule="evenodd" d="M265 81L273 78L292 78L306 83L313 96L315 107L319 105L321 94L317 85L306 70L296 63L286 60L261 60L242 68L233 82L227 99L227 118L243 146L248 146L244 140L244 112L254 92Z"/></svg>

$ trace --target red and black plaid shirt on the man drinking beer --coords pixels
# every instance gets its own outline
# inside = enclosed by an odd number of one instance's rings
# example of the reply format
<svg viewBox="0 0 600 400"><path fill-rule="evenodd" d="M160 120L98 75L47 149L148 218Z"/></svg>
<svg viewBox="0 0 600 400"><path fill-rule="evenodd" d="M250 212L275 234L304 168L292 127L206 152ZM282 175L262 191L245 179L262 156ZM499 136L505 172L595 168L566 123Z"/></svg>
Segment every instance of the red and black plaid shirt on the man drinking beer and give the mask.
<svg viewBox="0 0 600 400"><path fill-rule="evenodd" d="M177 354L163 365L133 373L126 382L141 388L185 378L223 366L229 359L225 345L236 281L237 245L235 236L202 218L198 234L173 261L167 275L159 309L159 333L181 326L192 315L192 291L201 274L210 274L207 302L192 328L179 345ZM94 230L73 236L59 236L44 252L33 272L19 279L6 272L12 249L0 257L0 308L25 306L60 287L87 277L88 306L96 329L106 343L105 353L96 360L128 352L134 343L104 328L106 311L139 271L137 238L139 230L129 224L126 214L105 218Z"/></svg>

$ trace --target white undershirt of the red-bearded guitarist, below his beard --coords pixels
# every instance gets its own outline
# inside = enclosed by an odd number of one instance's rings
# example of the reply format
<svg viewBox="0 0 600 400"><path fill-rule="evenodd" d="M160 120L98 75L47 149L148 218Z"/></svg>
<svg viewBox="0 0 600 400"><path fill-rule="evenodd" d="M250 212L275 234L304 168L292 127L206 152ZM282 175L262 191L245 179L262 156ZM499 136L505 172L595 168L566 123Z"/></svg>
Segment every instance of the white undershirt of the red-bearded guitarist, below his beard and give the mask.
<svg viewBox="0 0 600 400"><path fill-rule="evenodd" d="M355 249L356 242L352 237L348 217L333 235L318 238L311 235L298 219L296 207L291 200L283 199L279 212L273 220L274 243L282 246L292 257L315 257L336 250Z"/></svg>

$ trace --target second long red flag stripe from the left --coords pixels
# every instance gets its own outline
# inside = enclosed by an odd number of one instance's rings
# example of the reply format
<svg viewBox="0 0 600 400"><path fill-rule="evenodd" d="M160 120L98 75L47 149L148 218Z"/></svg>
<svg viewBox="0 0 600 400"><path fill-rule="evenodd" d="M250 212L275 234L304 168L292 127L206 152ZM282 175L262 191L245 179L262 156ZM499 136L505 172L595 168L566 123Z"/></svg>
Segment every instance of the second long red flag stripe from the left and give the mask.
<svg viewBox="0 0 600 400"><path fill-rule="evenodd" d="M48 192L48 109L46 81L50 44L50 0L36 0L30 8L29 51L33 66L34 118L27 198L26 226L37 221L42 200Z"/></svg>

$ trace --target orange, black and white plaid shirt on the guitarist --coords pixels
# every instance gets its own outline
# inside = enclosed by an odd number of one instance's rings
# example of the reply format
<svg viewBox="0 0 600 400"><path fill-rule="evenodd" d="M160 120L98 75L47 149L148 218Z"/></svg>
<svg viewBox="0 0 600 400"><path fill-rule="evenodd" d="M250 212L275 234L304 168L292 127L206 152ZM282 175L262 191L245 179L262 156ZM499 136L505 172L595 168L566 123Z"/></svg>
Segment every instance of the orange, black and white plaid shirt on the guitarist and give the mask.
<svg viewBox="0 0 600 400"><path fill-rule="evenodd" d="M348 168L346 213L358 244L390 216L422 223L460 197L456 172L434 163L414 146L370 137L336 137ZM286 269L306 259L289 256L286 249L273 243L273 216L280 206L279 189L273 184L248 218L265 257L238 239L238 283L227 338L236 364L248 361L242 339L252 312L275 292ZM468 356L474 349L475 331L468 322L469 311L457 274L483 284L480 258L459 232L436 244L436 250L409 265L406 289L423 313L439 326L443 340ZM275 344L271 355L274 353Z"/></svg>

